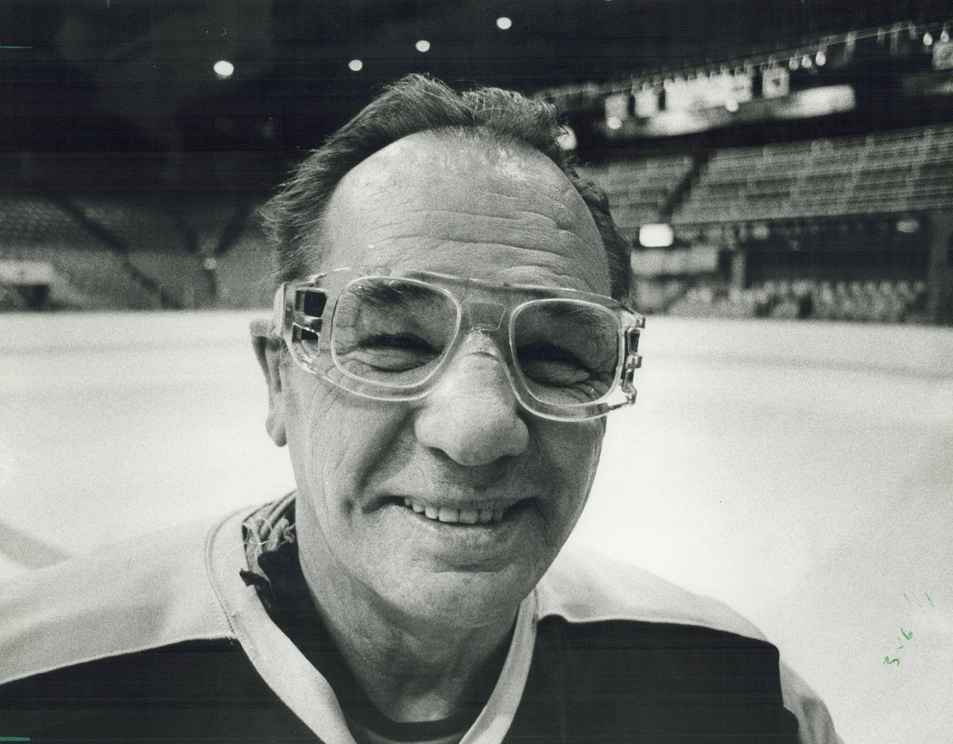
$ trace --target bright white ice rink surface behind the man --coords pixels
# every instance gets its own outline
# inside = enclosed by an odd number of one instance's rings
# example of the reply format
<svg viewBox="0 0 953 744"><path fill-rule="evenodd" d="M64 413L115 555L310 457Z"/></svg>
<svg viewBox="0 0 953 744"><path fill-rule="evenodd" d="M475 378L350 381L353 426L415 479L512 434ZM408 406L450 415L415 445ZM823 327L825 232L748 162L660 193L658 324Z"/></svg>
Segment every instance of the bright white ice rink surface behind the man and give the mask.
<svg viewBox="0 0 953 744"><path fill-rule="evenodd" d="M0 579L293 486L252 317L0 316ZM953 330L650 318L642 350L573 539L748 616L845 742L953 741Z"/></svg>

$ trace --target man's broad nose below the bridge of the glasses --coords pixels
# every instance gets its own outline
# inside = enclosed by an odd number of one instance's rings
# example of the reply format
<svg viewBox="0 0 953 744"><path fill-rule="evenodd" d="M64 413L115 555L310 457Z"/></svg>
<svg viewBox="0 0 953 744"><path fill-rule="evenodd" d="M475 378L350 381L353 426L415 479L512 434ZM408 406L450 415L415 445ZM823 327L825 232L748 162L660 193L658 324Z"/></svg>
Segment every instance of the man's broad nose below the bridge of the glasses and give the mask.
<svg viewBox="0 0 953 744"><path fill-rule="evenodd" d="M503 363L486 350L452 360L417 411L417 441L460 465L487 465L523 452L529 430Z"/></svg>

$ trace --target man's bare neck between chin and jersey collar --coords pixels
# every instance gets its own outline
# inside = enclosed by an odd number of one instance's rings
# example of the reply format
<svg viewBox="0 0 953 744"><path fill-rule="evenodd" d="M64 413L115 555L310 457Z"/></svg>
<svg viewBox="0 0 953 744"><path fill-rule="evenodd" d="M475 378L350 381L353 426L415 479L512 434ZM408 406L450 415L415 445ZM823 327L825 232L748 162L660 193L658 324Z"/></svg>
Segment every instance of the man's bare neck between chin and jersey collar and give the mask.
<svg viewBox="0 0 953 744"><path fill-rule="evenodd" d="M381 713L395 721L438 720L466 701L489 698L517 609L489 625L464 628L448 617L452 613L421 618L383 606L338 571L302 569L338 650Z"/></svg>

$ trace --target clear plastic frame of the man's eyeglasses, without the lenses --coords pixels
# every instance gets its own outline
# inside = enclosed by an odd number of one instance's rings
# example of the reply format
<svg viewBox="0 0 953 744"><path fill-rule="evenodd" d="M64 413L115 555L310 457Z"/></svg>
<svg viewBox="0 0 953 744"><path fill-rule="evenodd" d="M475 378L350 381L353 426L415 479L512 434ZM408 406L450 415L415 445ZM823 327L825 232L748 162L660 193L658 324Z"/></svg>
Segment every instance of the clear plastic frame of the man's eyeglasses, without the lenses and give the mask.
<svg viewBox="0 0 953 744"><path fill-rule="evenodd" d="M329 278L335 278L335 275L343 275L345 272L351 273L355 276L352 279L344 281L337 286L335 288L336 291L333 291L329 287L322 286L322 284L326 283ZM358 392L355 389L346 387L340 382L337 382L331 378L327 371L322 372L319 369L315 369L314 366L311 365L311 362L309 362L310 359L314 358L313 355L303 354L302 350L298 346L300 341L305 339L305 334L312 334L314 336L313 341L318 345L318 349L322 348L322 344L327 345L332 356L333 366L336 367L342 374L358 382L363 382L364 384L375 386L377 388L387 388L389 386L385 382L371 381L356 376L347 370L342 364L338 363L335 354L334 319L335 310L337 309L337 302L346 294L348 288L352 284L362 279L400 279L421 284L428 289L434 290L435 292L449 298L453 301L456 307L454 335L452 340L447 344L446 348L441 352L440 356L443 358L440 359L435 368L421 381L411 385L394 385L395 390L402 389L408 393L413 391L413 394L403 396L375 396L369 395L365 392ZM634 384L634 374L635 371L639 369L642 362L642 355L638 353L638 349L639 335L641 330L645 327L644 316L640 315L625 303L613 298L595 293L582 292L580 290L571 289L568 287L550 287L537 284L496 283L486 279L471 279L416 269L395 270L387 266L343 267L318 274L312 274L303 279L282 282L274 292L272 334L275 338L278 338L284 342L285 347L291 354L292 360L300 369L314 375L315 377L319 377L327 382L331 382L342 390L346 390L347 392L358 397L376 401L398 403L420 400L433 391L433 389L436 387L436 379L438 379L440 373L449 366L449 361L456 356L458 347L469 335L468 333L463 332L464 316L466 315L472 320L472 314L469 312L465 314L463 307L465 302L470 301L470 298L461 300L458 296L456 296L456 294L449 291L444 286L440 286L439 284L435 285L429 282L427 279L436 279L437 281L450 282L457 285L462 284L465 286L474 286L478 289L482 289L483 291L505 291L514 293L524 292L536 293L543 296L539 299L523 300L513 306L504 303L490 303L474 300L475 302L484 305L498 304L499 306L503 307L503 313L499 316L496 328L481 327L480 324L475 322L470 323L470 333L479 332L483 335L489 336L498 336L499 329L501 329L504 324L506 325L505 335L507 342L502 344L505 350L502 355L497 352L492 352L492 356L497 358L497 361L503 362L502 366L514 395L517 398L517 401L525 410L529 411L530 413L545 419L550 419L552 421L567 423L591 421L593 419L602 418L608 415L610 411L632 405L636 402L637 390ZM514 319L517 317L519 311L521 311L522 308L534 302L545 300L577 300L579 302L597 305L609 310L615 315L618 322L616 369L611 386L597 400L585 403L548 403L546 401L540 400L530 389L529 385L522 379L524 373L519 368L516 356ZM328 313L329 306L331 307L330 314ZM328 341L324 341L323 339L325 328L330 329L328 332L330 337ZM500 344L497 344L497 346L498 345ZM501 356L502 358L500 358ZM618 403L607 403L608 399L615 395L617 391L621 392L621 394L624 396L624 400ZM523 393L525 393L525 396ZM529 401L526 400L527 398ZM578 408L576 408L576 406L578 406ZM600 410L594 414L585 416L560 416L555 412L569 408L599 408Z"/></svg>

